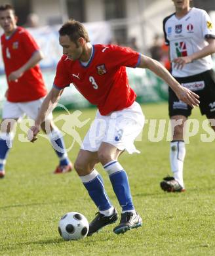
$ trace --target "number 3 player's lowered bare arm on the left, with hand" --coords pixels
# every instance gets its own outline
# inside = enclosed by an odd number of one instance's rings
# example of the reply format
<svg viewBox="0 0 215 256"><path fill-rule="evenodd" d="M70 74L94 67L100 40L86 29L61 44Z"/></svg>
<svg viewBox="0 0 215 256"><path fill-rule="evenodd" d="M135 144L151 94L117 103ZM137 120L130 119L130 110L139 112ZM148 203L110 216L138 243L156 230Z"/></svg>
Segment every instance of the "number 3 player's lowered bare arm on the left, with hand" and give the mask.
<svg viewBox="0 0 215 256"><path fill-rule="evenodd" d="M58 90L53 87L50 90L49 94L46 96L45 100L43 101L43 104L41 105L37 118L35 119L35 125L30 127L28 131L28 139L31 142L37 140L36 136L41 129L41 123L43 123L45 117L48 116L50 112L52 112L52 110L56 107L56 104L58 104L58 100L60 99L60 96L62 95L63 91L63 89Z"/></svg>

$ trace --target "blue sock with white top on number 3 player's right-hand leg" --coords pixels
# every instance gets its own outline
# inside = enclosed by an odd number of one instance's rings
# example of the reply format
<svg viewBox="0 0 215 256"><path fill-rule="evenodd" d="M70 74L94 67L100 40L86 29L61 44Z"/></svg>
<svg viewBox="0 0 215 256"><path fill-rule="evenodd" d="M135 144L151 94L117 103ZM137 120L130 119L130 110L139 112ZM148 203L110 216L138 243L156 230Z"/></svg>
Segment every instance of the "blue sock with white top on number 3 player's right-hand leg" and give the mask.
<svg viewBox="0 0 215 256"><path fill-rule="evenodd" d="M134 209L127 173L118 161L110 161L104 165L109 175L113 190L123 211Z"/></svg>

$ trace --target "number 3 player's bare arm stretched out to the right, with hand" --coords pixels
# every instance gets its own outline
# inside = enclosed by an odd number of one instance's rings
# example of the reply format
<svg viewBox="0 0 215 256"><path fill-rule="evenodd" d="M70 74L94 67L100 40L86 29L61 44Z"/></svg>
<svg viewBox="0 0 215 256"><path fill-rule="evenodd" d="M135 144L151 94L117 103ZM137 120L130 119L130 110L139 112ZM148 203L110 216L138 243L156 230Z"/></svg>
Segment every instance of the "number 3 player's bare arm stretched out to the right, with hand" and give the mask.
<svg viewBox="0 0 215 256"><path fill-rule="evenodd" d="M147 56L141 55L141 60L138 68L148 68L153 73L161 77L172 90L176 93L178 98L191 106L199 106L199 96L190 91L189 89L182 87L174 77L166 70L166 68L157 60L153 60Z"/></svg>

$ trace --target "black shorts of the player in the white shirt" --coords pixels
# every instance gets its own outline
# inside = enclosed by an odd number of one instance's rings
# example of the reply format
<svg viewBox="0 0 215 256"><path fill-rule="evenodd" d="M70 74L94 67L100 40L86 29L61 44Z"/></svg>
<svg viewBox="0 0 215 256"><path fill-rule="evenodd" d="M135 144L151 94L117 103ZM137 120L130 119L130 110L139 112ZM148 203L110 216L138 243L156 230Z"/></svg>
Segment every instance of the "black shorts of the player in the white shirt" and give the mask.
<svg viewBox="0 0 215 256"><path fill-rule="evenodd" d="M215 117L215 73L207 70L201 74L188 77L174 77L178 83L187 87L199 95L199 108L202 115L208 118ZM192 108L186 103L178 100L178 97L169 87L168 89L168 114L169 116L190 116Z"/></svg>

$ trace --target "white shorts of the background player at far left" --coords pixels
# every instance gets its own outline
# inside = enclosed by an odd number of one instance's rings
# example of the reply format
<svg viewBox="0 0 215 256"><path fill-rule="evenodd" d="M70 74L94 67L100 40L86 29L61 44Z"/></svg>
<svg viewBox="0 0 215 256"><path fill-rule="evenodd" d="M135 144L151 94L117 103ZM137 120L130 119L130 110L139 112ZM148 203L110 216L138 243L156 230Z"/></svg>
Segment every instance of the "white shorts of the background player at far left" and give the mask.
<svg viewBox="0 0 215 256"><path fill-rule="evenodd" d="M44 97L29 102L10 102L6 100L3 104L2 118L21 119L26 114L28 117L35 120L43 100ZM52 113L50 113L46 119L52 119Z"/></svg>

